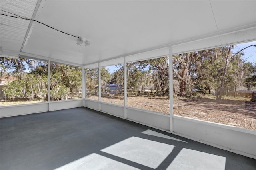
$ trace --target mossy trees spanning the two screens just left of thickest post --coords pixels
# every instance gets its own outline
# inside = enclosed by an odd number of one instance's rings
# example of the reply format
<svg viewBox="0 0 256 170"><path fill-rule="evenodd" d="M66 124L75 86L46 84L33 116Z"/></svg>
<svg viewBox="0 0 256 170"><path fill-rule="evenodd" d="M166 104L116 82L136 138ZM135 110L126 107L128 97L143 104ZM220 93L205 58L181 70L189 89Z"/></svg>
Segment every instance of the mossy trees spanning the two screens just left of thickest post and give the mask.
<svg viewBox="0 0 256 170"><path fill-rule="evenodd" d="M112 83L123 84L123 65L117 65L118 70L112 74ZM149 59L127 63L127 90L133 92L149 89L166 95L169 88L168 57Z"/></svg>

